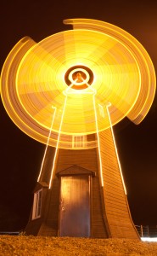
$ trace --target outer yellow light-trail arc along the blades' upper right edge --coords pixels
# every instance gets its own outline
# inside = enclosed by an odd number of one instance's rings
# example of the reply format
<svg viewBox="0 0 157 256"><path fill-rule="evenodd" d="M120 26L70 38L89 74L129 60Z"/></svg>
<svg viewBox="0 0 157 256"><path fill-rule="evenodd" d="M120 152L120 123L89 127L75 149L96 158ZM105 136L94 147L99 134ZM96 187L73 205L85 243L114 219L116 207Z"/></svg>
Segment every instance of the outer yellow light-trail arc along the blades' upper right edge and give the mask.
<svg viewBox="0 0 157 256"><path fill-rule="evenodd" d="M120 27L101 20L69 19L64 20L64 24L72 25L73 29L89 29L111 36L114 35L114 38L118 38L132 52L139 67L141 90L131 111L127 113L127 117L135 124L139 124L149 112L149 108L154 100L156 85L154 66L143 45ZM130 79L132 78L130 77Z"/></svg>

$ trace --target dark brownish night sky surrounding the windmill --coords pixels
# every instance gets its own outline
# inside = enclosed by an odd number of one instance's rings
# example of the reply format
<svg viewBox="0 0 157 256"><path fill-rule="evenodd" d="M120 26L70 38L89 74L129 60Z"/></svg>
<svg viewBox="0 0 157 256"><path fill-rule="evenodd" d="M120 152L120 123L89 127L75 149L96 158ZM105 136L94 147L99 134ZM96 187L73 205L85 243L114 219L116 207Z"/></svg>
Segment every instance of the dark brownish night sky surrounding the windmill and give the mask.
<svg viewBox="0 0 157 256"><path fill-rule="evenodd" d="M30 2L30 3L29 3ZM20 38L36 42L64 31L62 20L104 20L130 32L147 49L157 70L155 1L3 1L0 10L0 68ZM14 125L0 102L0 231L25 228L44 145ZM140 125L115 125L115 138L135 224L157 224L157 97Z"/></svg>

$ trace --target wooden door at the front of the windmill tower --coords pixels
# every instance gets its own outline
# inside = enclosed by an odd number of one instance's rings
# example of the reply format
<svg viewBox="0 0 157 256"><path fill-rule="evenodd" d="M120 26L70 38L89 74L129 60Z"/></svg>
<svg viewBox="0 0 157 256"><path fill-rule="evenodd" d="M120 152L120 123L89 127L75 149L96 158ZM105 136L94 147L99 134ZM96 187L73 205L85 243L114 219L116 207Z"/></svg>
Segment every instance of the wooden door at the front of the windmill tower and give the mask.
<svg viewBox="0 0 157 256"><path fill-rule="evenodd" d="M59 235L90 236L89 175L61 177Z"/></svg>

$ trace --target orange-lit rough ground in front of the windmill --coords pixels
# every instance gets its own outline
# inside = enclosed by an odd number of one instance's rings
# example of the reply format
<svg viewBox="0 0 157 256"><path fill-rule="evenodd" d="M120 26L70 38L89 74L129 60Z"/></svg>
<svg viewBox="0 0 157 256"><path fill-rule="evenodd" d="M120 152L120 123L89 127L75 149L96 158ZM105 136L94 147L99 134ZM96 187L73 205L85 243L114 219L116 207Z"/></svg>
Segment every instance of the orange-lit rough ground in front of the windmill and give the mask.
<svg viewBox="0 0 157 256"><path fill-rule="evenodd" d="M157 242L51 236L0 236L0 255L157 255Z"/></svg>

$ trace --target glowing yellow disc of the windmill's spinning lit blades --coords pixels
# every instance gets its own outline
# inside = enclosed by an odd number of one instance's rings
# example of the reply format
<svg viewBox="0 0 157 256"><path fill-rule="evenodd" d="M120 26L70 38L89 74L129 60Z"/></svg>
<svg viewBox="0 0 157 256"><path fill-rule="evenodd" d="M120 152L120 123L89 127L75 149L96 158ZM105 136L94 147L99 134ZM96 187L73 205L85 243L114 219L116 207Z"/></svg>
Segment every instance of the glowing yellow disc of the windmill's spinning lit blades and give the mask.
<svg viewBox="0 0 157 256"><path fill-rule="evenodd" d="M109 122L102 121L105 102L111 102L112 125L126 116L138 124L148 113L154 99L154 67L137 39L117 26L86 19L64 23L74 29L38 44L31 38L16 44L1 74L3 104L14 123L39 142L73 148L73 137L84 136L84 148L94 148L97 141L88 141L87 135L109 128ZM71 67L75 68L67 85L65 74ZM91 84L83 67L93 72ZM74 78L77 71L85 75L82 82ZM83 90L72 86L84 83ZM52 106L56 109L53 125Z"/></svg>

